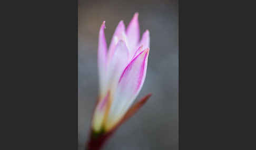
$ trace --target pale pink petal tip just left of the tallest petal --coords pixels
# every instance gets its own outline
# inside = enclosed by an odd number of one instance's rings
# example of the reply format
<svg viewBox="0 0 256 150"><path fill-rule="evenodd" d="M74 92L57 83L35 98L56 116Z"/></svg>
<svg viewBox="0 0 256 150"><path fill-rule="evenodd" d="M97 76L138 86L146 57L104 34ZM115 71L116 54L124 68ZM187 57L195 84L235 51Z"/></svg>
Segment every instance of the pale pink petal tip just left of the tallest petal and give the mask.
<svg viewBox="0 0 256 150"><path fill-rule="evenodd" d="M113 34L112 40L110 42L110 48L109 48L109 57L111 57L114 53L115 46L119 39L122 39L122 34L125 32L125 26L123 20L119 22L115 29L115 33Z"/></svg>

